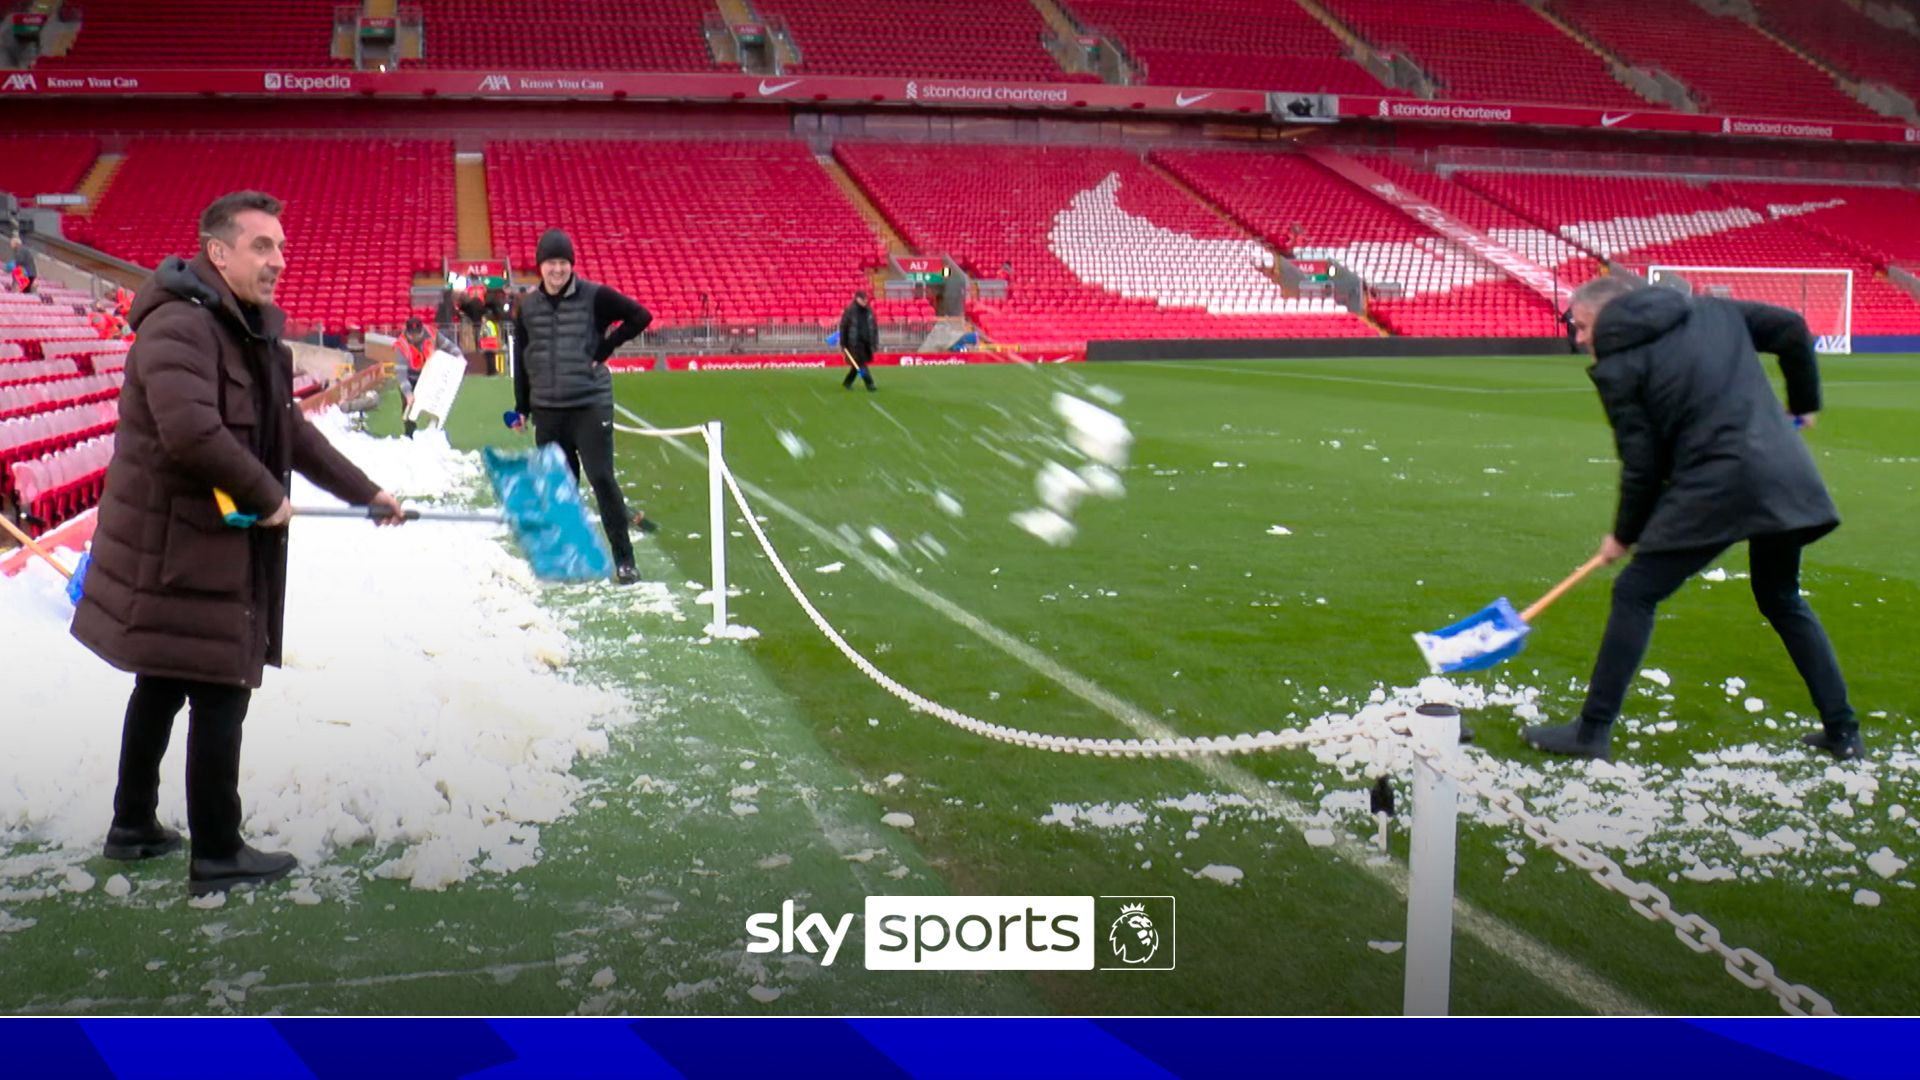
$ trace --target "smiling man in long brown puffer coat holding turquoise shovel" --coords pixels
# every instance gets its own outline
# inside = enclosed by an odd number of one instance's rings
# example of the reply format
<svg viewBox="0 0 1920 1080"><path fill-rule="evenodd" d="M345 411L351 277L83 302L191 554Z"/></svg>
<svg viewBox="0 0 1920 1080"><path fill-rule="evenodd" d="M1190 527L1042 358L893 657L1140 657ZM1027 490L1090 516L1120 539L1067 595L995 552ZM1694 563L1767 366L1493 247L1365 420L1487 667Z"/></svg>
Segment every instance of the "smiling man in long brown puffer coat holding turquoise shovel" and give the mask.
<svg viewBox="0 0 1920 1080"><path fill-rule="evenodd" d="M73 636L134 673L121 732L108 859L180 847L159 824L159 759L173 717L186 736L188 892L204 896L286 876L284 851L240 838L240 724L267 665L280 663L292 473L334 496L399 503L315 430L294 404L286 313L273 306L286 269L280 202L234 192L200 217L200 254L161 261L132 304L140 336L127 357L121 419ZM225 490L253 528L215 507Z"/></svg>

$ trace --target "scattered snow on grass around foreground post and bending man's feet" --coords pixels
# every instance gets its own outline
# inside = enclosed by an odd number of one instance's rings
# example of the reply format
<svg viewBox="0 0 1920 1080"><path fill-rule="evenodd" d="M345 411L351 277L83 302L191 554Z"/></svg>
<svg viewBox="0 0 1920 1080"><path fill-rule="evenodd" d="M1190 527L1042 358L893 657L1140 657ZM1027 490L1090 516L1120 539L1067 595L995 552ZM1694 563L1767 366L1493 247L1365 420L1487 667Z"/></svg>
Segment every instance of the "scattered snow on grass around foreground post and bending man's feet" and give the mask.
<svg viewBox="0 0 1920 1080"><path fill-rule="evenodd" d="M1695 694L1711 700L1718 690L1718 684L1709 684ZM1542 692L1530 686L1480 686L1428 676L1419 686L1379 686L1361 703L1332 698L1319 715L1288 717L1288 724L1306 730L1342 726L1354 719L1386 719L1425 701L1482 713L1480 724L1538 723L1544 719L1540 700ZM1513 721L1496 719L1501 713L1511 713ZM1672 730L1670 721L1628 715L1617 738L1638 740ZM1695 751L1684 765L1584 763L1540 755L1505 759L1478 748L1463 748L1461 753L1496 786L1519 792L1565 834L1619 859L1638 878L1661 886L1682 878L1786 880L1853 896L1860 884L1885 888L1891 882L1893 890L1920 884L1907 874L1908 863L1916 861L1912 851L1920 847L1920 821L1901 801L1910 801L1920 786L1920 753L1907 740L1895 742L1891 724L1882 730L1884 742L1868 761L1845 765L1780 736L1764 744L1730 738L1724 749ZM1405 778L1411 765L1404 740L1327 742L1315 744L1311 753L1334 774L1323 773L1304 815L1284 821L1308 846L1329 846L1338 834L1359 838L1375 830L1367 796L1373 776ZM1496 844L1507 853L1507 878L1530 863L1548 869L1557 863L1500 811L1484 803L1471 809L1463 803L1461 809L1494 830ZM1167 853L1185 863L1185 844L1208 830L1271 826L1283 819L1238 794L1192 792L1150 801L1052 803L1039 822L1125 836L1133 857L1152 867L1154 857ZM1202 869L1188 872L1198 876ZM1870 890L1868 899L1859 899L1862 905L1878 901L1880 896Z"/></svg>

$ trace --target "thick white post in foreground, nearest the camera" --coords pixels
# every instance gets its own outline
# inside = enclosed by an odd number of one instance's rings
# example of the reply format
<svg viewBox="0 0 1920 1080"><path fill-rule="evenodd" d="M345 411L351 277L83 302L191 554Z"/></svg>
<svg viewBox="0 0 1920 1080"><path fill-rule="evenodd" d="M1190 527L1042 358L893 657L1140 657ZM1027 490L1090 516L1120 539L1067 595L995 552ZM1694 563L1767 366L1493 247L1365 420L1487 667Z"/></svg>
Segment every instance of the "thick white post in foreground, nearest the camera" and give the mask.
<svg viewBox="0 0 1920 1080"><path fill-rule="evenodd" d="M1459 709L1421 705L1413 755L1413 855L1407 859L1407 1017L1446 1017L1453 970L1453 830L1459 813L1453 778L1442 761L1459 753Z"/></svg>

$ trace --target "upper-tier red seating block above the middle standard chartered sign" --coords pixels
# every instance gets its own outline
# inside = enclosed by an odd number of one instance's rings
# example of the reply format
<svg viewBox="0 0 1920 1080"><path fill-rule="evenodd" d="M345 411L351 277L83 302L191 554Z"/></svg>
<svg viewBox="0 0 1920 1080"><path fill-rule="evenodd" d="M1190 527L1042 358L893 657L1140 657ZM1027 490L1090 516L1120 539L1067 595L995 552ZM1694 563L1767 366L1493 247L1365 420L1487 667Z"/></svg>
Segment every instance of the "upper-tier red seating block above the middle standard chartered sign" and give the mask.
<svg viewBox="0 0 1920 1080"><path fill-rule="evenodd" d="M1411 56L1448 98L1653 108L1622 86L1599 56L1526 4L1323 2L1375 48Z"/></svg>

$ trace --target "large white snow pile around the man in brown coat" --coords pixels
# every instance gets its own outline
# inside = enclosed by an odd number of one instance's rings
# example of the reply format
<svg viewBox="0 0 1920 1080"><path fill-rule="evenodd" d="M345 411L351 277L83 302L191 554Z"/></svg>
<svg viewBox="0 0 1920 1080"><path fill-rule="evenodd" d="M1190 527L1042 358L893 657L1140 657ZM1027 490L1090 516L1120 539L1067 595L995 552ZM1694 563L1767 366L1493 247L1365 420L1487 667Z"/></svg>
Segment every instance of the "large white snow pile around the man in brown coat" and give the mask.
<svg viewBox="0 0 1920 1080"><path fill-rule="evenodd" d="M478 457L422 430L376 440L323 430L403 500L461 502ZM296 480L300 505L332 503ZM390 855L374 874L417 888L513 872L540 857L540 826L582 792L570 773L607 749L630 705L561 675L568 628L505 546L505 527L298 519L290 544L286 663L267 671L246 724L244 830L303 867L346 846ZM60 578L0 578L0 655L33 673L12 686L0 738L0 853L50 844L79 865L111 817L119 726L132 676L67 634ZM186 715L161 771L163 822L182 826ZM31 859L46 859L48 853ZM15 876L27 855L0 857Z"/></svg>

